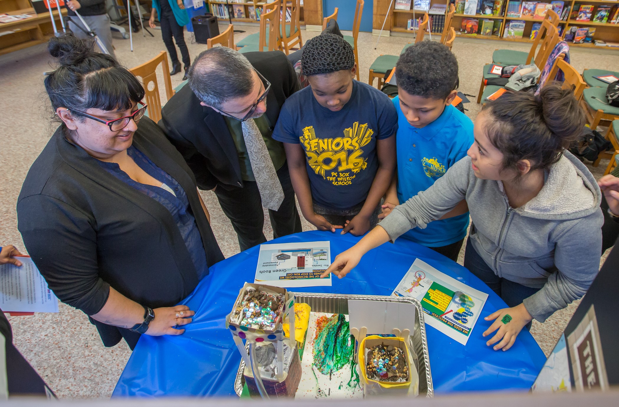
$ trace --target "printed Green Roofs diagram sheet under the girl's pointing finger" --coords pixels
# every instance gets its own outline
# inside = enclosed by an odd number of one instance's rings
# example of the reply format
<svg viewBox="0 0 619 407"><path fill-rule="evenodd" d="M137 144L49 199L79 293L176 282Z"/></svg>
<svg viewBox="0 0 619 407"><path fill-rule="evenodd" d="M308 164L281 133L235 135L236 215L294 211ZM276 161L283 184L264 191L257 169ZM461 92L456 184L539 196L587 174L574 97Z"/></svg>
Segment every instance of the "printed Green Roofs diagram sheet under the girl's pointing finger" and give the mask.
<svg viewBox="0 0 619 407"><path fill-rule="evenodd" d="M325 242L261 244L254 283L282 288L331 286L331 275L320 278L331 265Z"/></svg>

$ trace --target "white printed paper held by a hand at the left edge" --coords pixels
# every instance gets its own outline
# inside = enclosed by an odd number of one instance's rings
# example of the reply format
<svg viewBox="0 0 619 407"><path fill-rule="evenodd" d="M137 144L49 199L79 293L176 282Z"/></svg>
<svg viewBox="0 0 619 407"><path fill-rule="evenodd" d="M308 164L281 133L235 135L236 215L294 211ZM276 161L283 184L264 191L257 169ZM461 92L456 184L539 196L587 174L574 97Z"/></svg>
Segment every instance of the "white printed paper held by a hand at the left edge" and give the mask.
<svg viewBox="0 0 619 407"><path fill-rule="evenodd" d="M30 257L18 257L22 267L0 265L0 308L5 312L58 312L58 298Z"/></svg>

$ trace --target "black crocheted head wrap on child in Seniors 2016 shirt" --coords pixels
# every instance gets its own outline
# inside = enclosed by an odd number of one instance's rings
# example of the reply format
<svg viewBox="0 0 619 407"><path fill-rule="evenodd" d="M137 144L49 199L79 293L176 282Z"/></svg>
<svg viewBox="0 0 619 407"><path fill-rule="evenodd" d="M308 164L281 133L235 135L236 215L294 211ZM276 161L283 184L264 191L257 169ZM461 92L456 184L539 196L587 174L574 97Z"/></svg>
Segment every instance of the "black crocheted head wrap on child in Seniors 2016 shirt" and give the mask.
<svg viewBox="0 0 619 407"><path fill-rule="evenodd" d="M303 75L329 74L355 66L352 46L338 35L324 33L305 43L301 56Z"/></svg>

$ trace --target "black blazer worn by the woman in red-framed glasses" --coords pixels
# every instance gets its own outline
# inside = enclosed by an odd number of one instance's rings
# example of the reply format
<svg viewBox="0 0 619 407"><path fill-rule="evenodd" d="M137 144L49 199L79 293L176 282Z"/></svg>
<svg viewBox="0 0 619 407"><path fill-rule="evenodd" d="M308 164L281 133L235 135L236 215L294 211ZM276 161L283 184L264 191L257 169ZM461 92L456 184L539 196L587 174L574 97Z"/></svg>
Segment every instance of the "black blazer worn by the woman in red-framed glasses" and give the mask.
<svg viewBox="0 0 619 407"><path fill-rule="evenodd" d="M209 267L222 260L183 157L149 118L139 122L133 144L183 187ZM196 267L170 212L68 142L63 126L28 171L17 201L17 219L28 254L50 289L87 315L102 309L110 286L156 308L173 306L198 283ZM93 323L106 346L116 345L121 335L139 338L123 328Z"/></svg>

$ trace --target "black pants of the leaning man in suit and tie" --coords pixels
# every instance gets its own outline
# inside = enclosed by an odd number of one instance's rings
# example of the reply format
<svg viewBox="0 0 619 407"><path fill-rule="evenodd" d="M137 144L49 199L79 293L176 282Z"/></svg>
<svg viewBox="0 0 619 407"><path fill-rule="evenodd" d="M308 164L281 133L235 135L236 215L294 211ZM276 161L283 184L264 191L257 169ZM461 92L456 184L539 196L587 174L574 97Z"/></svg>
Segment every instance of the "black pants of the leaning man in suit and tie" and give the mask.
<svg viewBox="0 0 619 407"><path fill-rule="evenodd" d="M284 202L277 211L269 209L274 239L303 231L287 163L277 171L277 177L284 189ZM215 188L215 195L219 199L223 213L228 216L236 231L241 251L267 241L262 233L264 212L258 184L254 181L243 181L243 184L241 188L228 185L225 188L222 186Z"/></svg>

